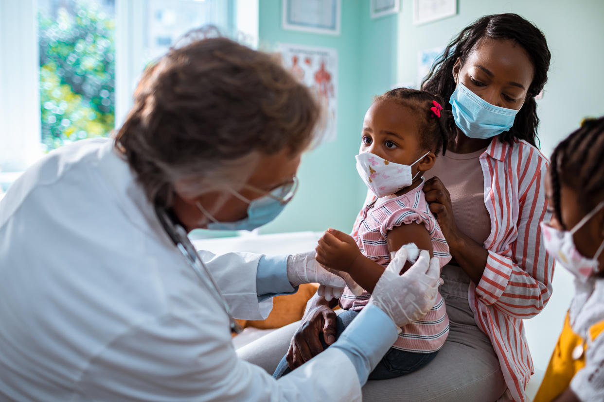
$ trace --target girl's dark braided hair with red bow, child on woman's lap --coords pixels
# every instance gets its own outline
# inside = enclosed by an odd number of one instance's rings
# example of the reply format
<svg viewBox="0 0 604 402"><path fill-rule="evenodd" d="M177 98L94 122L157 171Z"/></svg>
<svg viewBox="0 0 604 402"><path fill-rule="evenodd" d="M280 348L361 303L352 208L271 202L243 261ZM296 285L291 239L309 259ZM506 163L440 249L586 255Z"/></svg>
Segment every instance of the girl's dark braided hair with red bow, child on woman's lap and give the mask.
<svg viewBox="0 0 604 402"><path fill-rule="evenodd" d="M431 149L437 155L441 151L443 155L445 154L449 139L455 132L455 121L450 110L443 108L440 110L440 116L435 115L431 110L434 101L444 105L440 96L416 89L397 88L376 96L374 102L379 101L394 101L411 108L419 118L420 145L425 149Z"/></svg>

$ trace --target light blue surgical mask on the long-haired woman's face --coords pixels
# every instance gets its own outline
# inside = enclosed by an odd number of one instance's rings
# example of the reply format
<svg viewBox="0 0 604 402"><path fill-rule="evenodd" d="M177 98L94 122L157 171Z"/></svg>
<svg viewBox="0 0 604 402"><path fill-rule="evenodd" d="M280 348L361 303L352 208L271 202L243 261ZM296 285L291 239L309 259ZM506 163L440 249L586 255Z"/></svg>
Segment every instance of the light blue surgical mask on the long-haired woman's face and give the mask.
<svg viewBox="0 0 604 402"><path fill-rule="evenodd" d="M457 127L470 138L489 139L510 130L518 110L490 104L459 83L449 99Z"/></svg>

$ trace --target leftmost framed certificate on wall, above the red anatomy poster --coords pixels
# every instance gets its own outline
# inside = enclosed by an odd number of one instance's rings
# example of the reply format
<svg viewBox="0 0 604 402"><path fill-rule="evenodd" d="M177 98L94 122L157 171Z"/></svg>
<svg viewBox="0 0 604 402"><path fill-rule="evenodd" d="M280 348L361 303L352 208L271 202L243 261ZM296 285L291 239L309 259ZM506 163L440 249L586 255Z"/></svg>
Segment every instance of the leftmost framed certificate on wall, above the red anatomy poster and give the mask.
<svg viewBox="0 0 604 402"><path fill-rule="evenodd" d="M284 30L339 35L341 0L283 0Z"/></svg>

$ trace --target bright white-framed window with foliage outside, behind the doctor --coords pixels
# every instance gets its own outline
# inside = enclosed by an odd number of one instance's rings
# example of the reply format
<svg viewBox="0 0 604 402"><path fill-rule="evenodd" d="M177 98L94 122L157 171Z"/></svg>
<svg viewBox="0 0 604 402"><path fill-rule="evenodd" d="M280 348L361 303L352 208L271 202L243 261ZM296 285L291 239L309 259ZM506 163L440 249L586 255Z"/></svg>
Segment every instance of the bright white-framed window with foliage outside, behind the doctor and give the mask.
<svg viewBox="0 0 604 402"><path fill-rule="evenodd" d="M46 152L119 127L146 64L206 24L255 46L258 0L0 1L0 193Z"/></svg>

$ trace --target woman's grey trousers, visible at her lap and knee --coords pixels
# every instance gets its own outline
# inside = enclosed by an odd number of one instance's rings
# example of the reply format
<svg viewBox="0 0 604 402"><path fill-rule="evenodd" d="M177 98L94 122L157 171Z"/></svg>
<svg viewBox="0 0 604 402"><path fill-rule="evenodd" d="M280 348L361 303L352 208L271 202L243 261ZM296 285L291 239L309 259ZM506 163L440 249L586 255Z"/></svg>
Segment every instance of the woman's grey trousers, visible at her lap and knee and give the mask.
<svg viewBox="0 0 604 402"><path fill-rule="evenodd" d="M434 360L402 377L368 381L362 388L364 401L488 402L506 391L499 361L486 334L476 325L457 324L455 308L448 306L448 313L449 336ZM299 325L298 321L279 328L239 348L237 355L272 374Z"/></svg>

